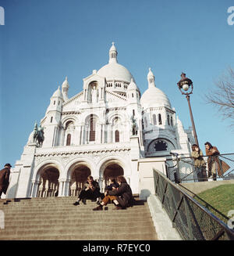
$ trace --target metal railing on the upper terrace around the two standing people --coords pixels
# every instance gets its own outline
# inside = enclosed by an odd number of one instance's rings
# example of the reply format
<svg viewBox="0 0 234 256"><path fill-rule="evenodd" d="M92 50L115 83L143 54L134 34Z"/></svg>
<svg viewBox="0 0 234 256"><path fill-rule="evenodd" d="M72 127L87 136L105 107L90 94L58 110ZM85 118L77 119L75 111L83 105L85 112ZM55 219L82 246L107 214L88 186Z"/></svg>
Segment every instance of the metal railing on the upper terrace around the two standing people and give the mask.
<svg viewBox="0 0 234 256"><path fill-rule="evenodd" d="M207 163L207 156L204 156L204 160ZM167 177L172 182L197 182L197 181L207 181L209 177L208 168L204 170L203 178L198 178L197 168L193 164L193 159L191 157L176 157L168 161ZM218 156L219 166L221 167L222 175L218 175L217 179L234 179L234 153L225 153ZM228 171L222 170L222 161L225 161L229 165ZM177 180L176 180L177 178Z"/></svg>

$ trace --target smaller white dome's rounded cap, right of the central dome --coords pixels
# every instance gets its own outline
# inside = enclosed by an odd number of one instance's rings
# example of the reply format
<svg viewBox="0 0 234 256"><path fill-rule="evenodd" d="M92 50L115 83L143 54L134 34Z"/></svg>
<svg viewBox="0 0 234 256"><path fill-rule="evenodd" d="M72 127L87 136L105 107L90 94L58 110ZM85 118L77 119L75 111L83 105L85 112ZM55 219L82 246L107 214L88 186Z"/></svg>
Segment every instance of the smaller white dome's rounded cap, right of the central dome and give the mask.
<svg viewBox="0 0 234 256"><path fill-rule="evenodd" d="M168 106L171 108L168 96L157 87L147 88L140 98L140 104L144 108L147 106Z"/></svg>

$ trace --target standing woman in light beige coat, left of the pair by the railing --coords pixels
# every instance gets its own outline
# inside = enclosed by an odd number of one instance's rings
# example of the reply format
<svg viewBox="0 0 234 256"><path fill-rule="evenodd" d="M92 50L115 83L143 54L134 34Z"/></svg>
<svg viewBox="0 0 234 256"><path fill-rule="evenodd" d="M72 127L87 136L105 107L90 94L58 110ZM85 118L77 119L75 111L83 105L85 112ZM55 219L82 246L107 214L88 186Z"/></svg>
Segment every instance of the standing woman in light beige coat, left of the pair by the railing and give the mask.
<svg viewBox="0 0 234 256"><path fill-rule="evenodd" d="M195 171L199 182L207 181L206 162L203 159L203 153L197 144L193 144L192 153Z"/></svg>

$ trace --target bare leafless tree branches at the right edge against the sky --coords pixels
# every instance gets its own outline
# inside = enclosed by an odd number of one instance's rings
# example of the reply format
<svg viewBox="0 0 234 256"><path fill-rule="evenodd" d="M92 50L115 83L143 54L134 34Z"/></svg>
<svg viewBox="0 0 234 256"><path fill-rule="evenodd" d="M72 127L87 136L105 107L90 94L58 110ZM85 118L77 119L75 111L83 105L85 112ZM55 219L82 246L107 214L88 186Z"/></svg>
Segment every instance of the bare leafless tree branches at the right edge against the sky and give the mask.
<svg viewBox="0 0 234 256"><path fill-rule="evenodd" d="M215 89L209 92L206 102L217 107L222 114L222 120L231 120L231 127L234 124L234 70L229 68L228 74L215 82Z"/></svg>

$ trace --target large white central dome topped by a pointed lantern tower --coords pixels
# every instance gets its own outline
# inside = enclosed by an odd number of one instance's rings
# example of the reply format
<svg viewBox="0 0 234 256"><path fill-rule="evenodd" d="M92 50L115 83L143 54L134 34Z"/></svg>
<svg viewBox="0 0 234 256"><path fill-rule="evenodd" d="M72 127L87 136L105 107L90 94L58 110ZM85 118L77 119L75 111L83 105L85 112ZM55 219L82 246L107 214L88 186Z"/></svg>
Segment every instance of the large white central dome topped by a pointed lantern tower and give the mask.
<svg viewBox="0 0 234 256"><path fill-rule="evenodd" d="M97 71L97 74L101 77L106 78L107 81L126 81L130 83L133 75L117 62L117 50L115 48L114 43L112 43L112 47L109 50L109 63L104 67L101 67L100 70ZM133 78L134 80L134 78Z"/></svg>

